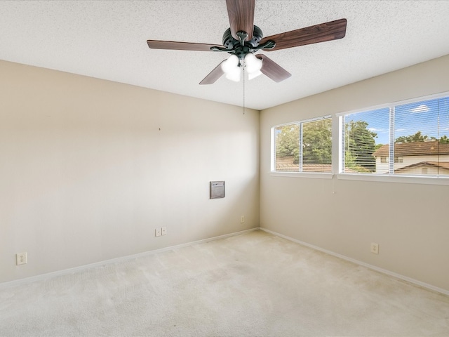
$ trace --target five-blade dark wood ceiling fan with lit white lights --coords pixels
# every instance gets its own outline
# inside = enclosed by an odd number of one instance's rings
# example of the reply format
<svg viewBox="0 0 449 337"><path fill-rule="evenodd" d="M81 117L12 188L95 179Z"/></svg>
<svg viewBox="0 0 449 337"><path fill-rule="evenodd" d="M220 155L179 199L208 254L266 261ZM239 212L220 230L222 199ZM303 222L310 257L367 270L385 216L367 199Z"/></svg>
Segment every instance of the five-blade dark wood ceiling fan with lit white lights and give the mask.
<svg viewBox="0 0 449 337"><path fill-rule="evenodd" d="M317 44L342 39L346 34L346 19L324 22L319 25L291 30L263 37L262 29L254 25L255 0L226 0L229 28L223 34L222 46L191 42L147 40L149 48L182 51L224 51L231 56L215 67L199 84L213 84L223 74L227 79L239 81L244 67L248 78L265 74L280 82L291 74L264 54L257 51L279 51L284 48Z"/></svg>

